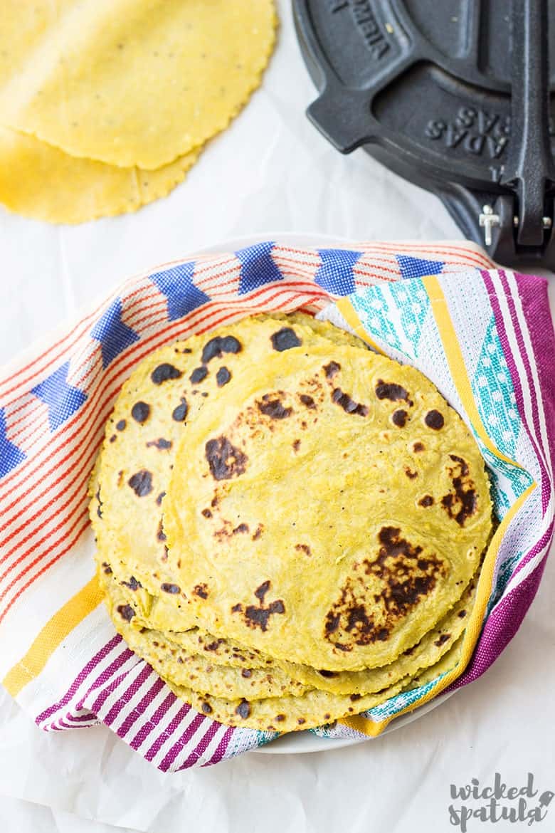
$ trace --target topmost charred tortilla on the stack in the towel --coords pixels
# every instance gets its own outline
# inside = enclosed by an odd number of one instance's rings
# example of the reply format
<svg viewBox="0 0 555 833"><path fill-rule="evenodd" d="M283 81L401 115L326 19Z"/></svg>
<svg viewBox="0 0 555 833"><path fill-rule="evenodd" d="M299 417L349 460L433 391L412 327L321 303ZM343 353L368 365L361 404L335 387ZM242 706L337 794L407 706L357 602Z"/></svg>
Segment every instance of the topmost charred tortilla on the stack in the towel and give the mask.
<svg viewBox="0 0 555 833"><path fill-rule="evenodd" d="M177 451L163 528L207 631L361 671L458 601L492 503L473 436L422 373L328 342L207 400Z"/></svg>

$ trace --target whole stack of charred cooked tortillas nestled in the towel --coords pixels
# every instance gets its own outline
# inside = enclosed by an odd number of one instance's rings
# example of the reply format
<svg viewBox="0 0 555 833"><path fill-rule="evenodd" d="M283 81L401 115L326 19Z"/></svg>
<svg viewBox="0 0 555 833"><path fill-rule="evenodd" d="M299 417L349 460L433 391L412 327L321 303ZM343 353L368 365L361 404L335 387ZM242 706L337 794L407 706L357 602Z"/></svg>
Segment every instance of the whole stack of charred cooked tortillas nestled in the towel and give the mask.
<svg viewBox="0 0 555 833"><path fill-rule="evenodd" d="M319 726L458 662L482 456L420 372L328 323L250 317L151 354L91 494L117 631L218 721Z"/></svg>

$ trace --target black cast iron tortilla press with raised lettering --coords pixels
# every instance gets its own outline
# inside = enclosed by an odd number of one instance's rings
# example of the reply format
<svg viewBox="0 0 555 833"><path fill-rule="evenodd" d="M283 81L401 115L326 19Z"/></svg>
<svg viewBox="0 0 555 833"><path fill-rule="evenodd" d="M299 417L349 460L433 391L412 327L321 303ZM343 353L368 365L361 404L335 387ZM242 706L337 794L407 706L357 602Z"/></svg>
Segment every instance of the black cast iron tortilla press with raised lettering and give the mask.
<svg viewBox="0 0 555 833"><path fill-rule="evenodd" d="M307 113L339 151L364 147L437 193L495 261L555 270L554 0L293 9L320 91Z"/></svg>

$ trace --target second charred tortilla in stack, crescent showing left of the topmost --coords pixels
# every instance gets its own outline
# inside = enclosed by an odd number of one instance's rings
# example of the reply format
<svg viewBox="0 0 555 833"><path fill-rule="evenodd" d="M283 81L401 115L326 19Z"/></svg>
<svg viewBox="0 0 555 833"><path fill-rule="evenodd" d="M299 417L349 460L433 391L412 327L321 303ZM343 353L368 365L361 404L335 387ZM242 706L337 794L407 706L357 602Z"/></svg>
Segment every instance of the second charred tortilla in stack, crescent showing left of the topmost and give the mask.
<svg viewBox="0 0 555 833"><path fill-rule="evenodd" d="M140 581L151 596L166 597L181 629L196 620L191 613L186 619L181 593L166 571L162 530L177 444L206 402L219 400L260 363L271 368L292 344L307 350L356 344L366 352L358 338L302 313L244 318L151 353L121 388L107 421L90 486L98 562L109 561L116 575Z"/></svg>

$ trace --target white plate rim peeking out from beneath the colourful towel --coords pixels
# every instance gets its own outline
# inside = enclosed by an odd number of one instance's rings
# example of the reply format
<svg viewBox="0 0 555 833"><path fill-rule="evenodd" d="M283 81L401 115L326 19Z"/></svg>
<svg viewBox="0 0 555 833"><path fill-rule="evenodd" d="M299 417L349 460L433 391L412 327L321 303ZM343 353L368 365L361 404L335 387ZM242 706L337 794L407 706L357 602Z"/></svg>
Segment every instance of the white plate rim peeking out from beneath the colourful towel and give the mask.
<svg viewBox="0 0 555 833"><path fill-rule="evenodd" d="M265 242L267 240L275 240L276 242L285 243L287 246L321 246L326 248L345 249L356 245L354 241L349 241L345 237L330 237L327 234L297 234L295 232L267 232L266 234L259 234L256 236L235 237L230 240L225 240L218 243L217 246L210 246L193 252L187 257L198 257L199 255L214 254L216 252L234 252L235 249L244 248L245 246L253 246L255 243ZM408 715L398 717L387 726L382 735L386 735L390 731L400 729L402 726L412 723L428 714L429 711L440 706L448 698L454 694L452 691L449 694L444 694L436 697L433 701L420 706L419 709L411 711ZM380 736L381 737L381 736ZM283 735L272 741L266 746L260 746L256 749L261 755L290 755L300 754L304 752L325 752L333 749L342 749L344 746L354 746L364 741L371 741L371 737L341 737L341 738L325 738L313 735L310 731L290 732L288 735Z"/></svg>

